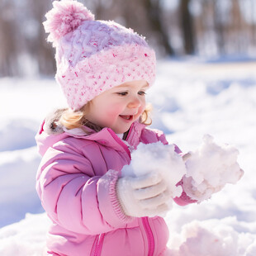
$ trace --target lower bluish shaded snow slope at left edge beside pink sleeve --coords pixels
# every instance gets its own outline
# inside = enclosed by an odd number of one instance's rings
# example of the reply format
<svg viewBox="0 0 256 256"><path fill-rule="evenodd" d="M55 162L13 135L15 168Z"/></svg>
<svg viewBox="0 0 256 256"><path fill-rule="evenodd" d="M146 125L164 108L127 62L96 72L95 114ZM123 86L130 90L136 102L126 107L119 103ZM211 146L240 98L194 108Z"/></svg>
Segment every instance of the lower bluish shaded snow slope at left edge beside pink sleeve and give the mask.
<svg viewBox="0 0 256 256"><path fill-rule="evenodd" d="M35 185L39 164L36 146L0 152L0 227L21 220L26 212L42 212Z"/></svg>

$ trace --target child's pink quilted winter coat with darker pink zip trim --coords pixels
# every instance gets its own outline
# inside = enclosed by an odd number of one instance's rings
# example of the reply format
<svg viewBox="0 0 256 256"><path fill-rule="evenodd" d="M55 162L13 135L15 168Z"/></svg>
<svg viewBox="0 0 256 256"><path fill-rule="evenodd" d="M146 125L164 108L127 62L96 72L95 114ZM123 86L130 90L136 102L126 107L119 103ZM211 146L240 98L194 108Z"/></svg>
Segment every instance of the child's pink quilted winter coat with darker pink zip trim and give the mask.
<svg viewBox="0 0 256 256"><path fill-rule="evenodd" d="M36 189L52 220L48 253L63 256L164 254L168 241L164 219L124 215L115 188L121 169L130 164L130 150L136 149L140 142L149 144L160 140L167 144L164 134L135 122L126 139L128 145L109 128L99 132L89 130L90 135L80 131L49 135L42 125L36 135L43 156ZM180 205L191 202L184 193L176 199Z"/></svg>

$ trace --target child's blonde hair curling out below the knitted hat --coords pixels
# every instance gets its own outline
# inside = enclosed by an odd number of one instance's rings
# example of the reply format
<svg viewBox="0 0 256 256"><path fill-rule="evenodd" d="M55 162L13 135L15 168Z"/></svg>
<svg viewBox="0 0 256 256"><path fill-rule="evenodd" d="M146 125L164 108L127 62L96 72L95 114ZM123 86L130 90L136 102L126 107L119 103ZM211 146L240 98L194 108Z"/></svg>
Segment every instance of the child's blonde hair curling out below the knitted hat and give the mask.
<svg viewBox="0 0 256 256"><path fill-rule="evenodd" d="M78 111L73 111L69 108L64 109L60 116L59 123L69 130L86 126L89 123L86 116L90 111L90 104L91 102L88 102ZM146 126L150 126L152 124L150 111L152 111L152 106L151 104L147 104L145 111L140 116L140 123L145 124Z"/></svg>

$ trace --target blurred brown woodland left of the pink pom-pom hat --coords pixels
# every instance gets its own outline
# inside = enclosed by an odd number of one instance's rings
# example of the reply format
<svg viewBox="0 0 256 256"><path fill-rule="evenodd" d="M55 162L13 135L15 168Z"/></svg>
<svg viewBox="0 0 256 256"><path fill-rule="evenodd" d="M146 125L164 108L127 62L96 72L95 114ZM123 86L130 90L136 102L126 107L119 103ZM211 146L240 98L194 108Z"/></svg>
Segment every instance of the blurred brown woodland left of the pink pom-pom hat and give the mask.
<svg viewBox="0 0 256 256"><path fill-rule="evenodd" d="M53 74L55 50L47 44L41 24L52 4L40 0L23 1L0 2L0 74Z"/></svg>

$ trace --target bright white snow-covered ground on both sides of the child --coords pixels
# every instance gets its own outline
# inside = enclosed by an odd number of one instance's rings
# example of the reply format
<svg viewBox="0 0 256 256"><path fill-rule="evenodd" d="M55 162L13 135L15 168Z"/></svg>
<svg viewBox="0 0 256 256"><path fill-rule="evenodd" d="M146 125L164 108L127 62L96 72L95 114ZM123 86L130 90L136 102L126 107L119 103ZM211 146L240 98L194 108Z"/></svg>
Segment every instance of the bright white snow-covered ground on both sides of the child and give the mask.
<svg viewBox="0 0 256 256"><path fill-rule="evenodd" d="M165 217L173 256L255 256L256 64L163 61L148 92L153 127L183 151L204 134L239 149L244 177L210 200ZM39 256L49 221L35 191L40 121L64 98L53 79L0 79L0 254ZM207 167L206 167L207 168Z"/></svg>

